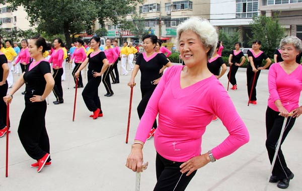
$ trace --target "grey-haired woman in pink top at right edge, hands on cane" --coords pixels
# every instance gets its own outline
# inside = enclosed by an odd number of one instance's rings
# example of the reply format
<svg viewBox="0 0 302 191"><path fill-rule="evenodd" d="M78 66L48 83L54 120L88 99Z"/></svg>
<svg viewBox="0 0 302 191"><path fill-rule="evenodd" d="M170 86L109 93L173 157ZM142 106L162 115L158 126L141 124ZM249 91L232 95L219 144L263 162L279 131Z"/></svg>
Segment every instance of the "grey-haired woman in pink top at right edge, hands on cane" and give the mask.
<svg viewBox="0 0 302 191"><path fill-rule="evenodd" d="M296 56L302 50L302 42L295 36L283 38L280 42L283 61L274 63L268 72L268 106L266 110L266 149L272 163L284 117L288 117L281 144L291 130L296 117L302 113L299 97L302 91L302 66L296 62ZM289 112L293 112L289 116ZM270 182L278 182L279 188L287 188L293 173L286 165L281 148L274 164Z"/></svg>

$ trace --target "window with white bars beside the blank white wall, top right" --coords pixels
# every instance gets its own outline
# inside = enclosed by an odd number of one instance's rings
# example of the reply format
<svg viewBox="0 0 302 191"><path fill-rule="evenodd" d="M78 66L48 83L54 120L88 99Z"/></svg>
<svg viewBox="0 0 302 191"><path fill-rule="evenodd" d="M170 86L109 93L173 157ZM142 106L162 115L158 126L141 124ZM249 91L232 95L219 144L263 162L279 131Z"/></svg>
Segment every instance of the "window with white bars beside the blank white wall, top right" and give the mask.
<svg viewBox="0 0 302 191"><path fill-rule="evenodd" d="M257 0L236 0L236 18L253 18L257 15Z"/></svg>

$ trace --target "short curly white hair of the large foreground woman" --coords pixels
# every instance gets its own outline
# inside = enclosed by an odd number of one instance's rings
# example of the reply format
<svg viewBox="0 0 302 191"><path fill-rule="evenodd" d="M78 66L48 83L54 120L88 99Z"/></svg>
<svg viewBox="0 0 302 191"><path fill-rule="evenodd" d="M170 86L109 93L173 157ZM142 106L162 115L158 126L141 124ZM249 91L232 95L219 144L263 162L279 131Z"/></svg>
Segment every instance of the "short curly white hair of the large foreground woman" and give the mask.
<svg viewBox="0 0 302 191"><path fill-rule="evenodd" d="M177 27L177 45L179 47L179 39L183 32L192 31L195 32L205 48L210 48L207 52L207 58L209 59L215 52L218 35L216 29L208 22L208 20L191 17L184 21Z"/></svg>

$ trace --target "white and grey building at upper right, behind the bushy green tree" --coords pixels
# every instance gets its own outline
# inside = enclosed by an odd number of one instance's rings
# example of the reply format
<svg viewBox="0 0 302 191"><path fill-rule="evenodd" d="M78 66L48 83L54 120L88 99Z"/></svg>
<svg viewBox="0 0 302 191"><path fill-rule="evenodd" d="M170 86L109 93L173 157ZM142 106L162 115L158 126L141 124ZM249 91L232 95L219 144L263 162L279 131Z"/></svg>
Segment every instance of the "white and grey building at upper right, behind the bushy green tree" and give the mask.
<svg viewBox="0 0 302 191"><path fill-rule="evenodd" d="M277 14L287 35L302 39L302 0L211 0L210 4L210 22L229 34L240 29L244 47L251 47L248 44L248 36L252 35L249 24L259 15Z"/></svg>

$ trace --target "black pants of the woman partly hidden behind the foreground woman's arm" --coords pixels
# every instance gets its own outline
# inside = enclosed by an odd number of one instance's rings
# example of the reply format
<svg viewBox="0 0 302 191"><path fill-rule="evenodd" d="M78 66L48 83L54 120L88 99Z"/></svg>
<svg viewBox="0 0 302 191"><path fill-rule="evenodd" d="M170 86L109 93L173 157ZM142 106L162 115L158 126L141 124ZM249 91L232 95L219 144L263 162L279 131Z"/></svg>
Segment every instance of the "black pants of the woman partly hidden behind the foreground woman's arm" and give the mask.
<svg viewBox="0 0 302 191"><path fill-rule="evenodd" d="M146 107L147 107L147 104L148 104L148 101L150 99L150 97L152 96L154 90L156 88L156 85L154 85L153 88L142 88L140 87L140 91L141 91L141 101L139 102L138 106L137 106L137 113L138 113L138 117L139 119L141 119ZM156 119L153 123L153 128L156 129L157 128L157 122L156 122Z"/></svg>

